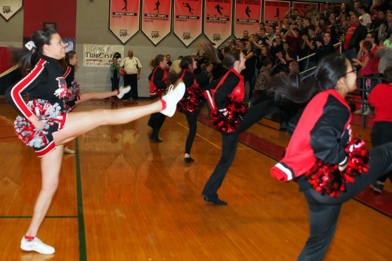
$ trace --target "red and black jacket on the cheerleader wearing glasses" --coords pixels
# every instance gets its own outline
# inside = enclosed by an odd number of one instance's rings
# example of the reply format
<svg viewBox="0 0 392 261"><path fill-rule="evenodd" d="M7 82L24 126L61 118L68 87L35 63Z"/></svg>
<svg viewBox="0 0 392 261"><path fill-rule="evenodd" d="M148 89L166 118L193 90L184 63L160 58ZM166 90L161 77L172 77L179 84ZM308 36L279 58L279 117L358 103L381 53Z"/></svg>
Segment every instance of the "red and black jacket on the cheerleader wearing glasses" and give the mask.
<svg viewBox="0 0 392 261"><path fill-rule="evenodd" d="M272 175L279 180L295 180L308 171L316 159L344 166L347 163L344 148L352 139L350 120L350 107L336 90L324 90L315 95L302 112L284 158L271 168Z"/></svg>

